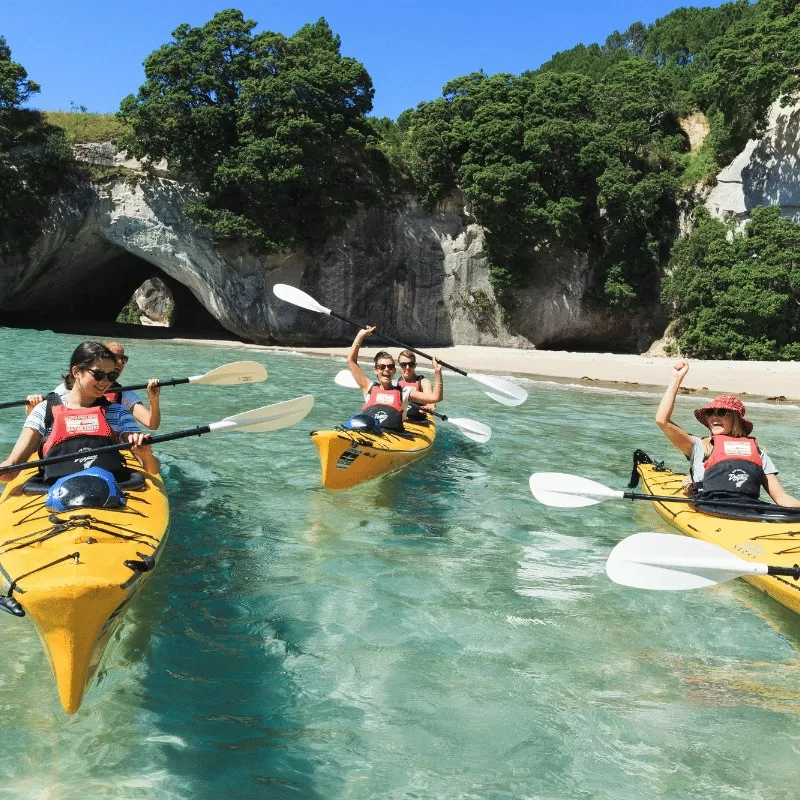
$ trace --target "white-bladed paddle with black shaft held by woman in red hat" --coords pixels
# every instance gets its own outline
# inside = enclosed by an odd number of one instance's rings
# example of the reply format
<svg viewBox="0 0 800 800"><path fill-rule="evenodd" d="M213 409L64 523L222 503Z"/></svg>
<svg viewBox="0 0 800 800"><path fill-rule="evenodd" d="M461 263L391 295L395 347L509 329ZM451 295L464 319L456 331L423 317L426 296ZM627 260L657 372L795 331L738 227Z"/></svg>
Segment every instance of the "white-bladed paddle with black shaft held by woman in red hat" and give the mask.
<svg viewBox="0 0 800 800"><path fill-rule="evenodd" d="M740 502L738 500L700 499L698 497L673 497L672 495L645 494L642 492L623 492L609 489L602 483L568 475L563 472L534 472L530 478L533 496L546 506L557 508L582 508L605 503L607 500L649 500L657 503L689 503L691 505L720 506L728 508L748 508L759 511L782 509L769 503Z"/></svg>

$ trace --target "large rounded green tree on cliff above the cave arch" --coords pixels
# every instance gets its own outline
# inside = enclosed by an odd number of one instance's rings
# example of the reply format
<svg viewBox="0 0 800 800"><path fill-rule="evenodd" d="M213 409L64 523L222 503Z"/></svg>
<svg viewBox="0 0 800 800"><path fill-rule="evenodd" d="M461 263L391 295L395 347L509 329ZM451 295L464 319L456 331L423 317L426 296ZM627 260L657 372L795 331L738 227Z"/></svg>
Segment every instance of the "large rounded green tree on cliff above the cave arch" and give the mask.
<svg viewBox="0 0 800 800"><path fill-rule="evenodd" d="M187 210L215 236L319 244L373 196L372 82L324 19L290 37L254 27L233 9L178 27L122 102L123 145L193 180L204 199Z"/></svg>

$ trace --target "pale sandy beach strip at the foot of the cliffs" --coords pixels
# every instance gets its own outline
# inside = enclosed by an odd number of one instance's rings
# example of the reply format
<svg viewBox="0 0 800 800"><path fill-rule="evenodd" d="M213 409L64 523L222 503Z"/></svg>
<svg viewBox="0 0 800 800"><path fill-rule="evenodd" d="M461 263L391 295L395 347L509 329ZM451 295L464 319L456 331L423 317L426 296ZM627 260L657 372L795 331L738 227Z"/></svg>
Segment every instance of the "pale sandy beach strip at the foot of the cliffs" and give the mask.
<svg viewBox="0 0 800 800"><path fill-rule="evenodd" d="M192 340L195 344L197 340ZM208 344L236 344L209 340ZM275 347L241 344L249 350L284 351L327 358L346 358L347 347ZM381 348L364 347L360 359L367 363ZM552 350L517 350L457 345L420 350L467 372L554 380L565 383L607 385L617 388L663 389L676 359L614 353L573 353ZM389 348L395 356L399 348ZM424 359L420 359L424 364ZM800 364L794 361L700 361L683 383L688 393L736 394L754 400L800 402ZM422 370L424 371L424 370Z"/></svg>

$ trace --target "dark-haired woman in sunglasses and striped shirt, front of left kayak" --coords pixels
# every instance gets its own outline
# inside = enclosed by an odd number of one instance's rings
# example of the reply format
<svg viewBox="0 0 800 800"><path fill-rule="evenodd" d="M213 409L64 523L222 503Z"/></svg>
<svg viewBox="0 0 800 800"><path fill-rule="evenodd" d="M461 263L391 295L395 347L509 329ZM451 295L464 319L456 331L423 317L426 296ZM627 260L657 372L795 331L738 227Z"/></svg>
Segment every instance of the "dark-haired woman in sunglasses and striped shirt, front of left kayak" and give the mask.
<svg viewBox="0 0 800 800"><path fill-rule="evenodd" d="M143 444L145 434L139 431L130 412L109 402L104 394L119 377L114 354L99 342L83 342L70 359L64 376L66 398L55 392L38 403L25 419L22 433L9 457L0 466L27 461L39 450L42 457L75 454L75 459L45 467L44 481L52 483L64 475L85 467L102 467L126 479L120 453L102 453L89 458L81 451L127 440L131 451L147 472L158 472L159 461L150 445ZM91 459L91 463L87 463ZM0 480L9 481L17 472L0 473Z"/></svg>

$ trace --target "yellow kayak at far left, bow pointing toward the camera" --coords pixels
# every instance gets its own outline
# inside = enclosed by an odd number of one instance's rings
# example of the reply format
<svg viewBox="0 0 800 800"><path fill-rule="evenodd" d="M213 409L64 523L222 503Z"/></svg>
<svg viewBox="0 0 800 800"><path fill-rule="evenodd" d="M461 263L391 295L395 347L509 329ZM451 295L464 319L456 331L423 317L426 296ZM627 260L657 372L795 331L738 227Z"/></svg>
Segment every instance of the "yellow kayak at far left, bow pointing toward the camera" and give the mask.
<svg viewBox="0 0 800 800"><path fill-rule="evenodd" d="M74 714L125 609L158 563L169 507L158 475L126 456L131 480L120 508L45 506L27 470L0 497L3 610L36 626L58 686Z"/></svg>

